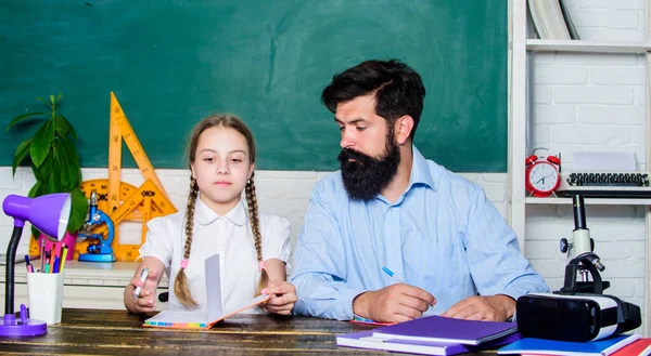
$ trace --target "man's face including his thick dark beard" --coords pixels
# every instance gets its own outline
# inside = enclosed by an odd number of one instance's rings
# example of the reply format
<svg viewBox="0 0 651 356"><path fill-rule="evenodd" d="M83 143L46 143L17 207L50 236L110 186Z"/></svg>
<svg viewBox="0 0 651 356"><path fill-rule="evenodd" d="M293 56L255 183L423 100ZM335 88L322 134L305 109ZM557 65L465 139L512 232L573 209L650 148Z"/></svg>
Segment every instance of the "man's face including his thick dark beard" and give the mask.
<svg viewBox="0 0 651 356"><path fill-rule="evenodd" d="M350 199L373 199L398 170L400 151L394 131L375 114L372 95L337 105L334 119L342 132L342 153L337 159L344 187Z"/></svg>

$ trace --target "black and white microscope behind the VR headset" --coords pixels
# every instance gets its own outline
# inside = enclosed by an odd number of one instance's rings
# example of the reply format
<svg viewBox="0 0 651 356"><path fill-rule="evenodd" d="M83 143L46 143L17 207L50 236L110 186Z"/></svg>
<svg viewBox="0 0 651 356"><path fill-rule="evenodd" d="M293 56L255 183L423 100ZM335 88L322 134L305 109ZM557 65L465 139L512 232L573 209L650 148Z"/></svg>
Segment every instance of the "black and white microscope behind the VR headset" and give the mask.
<svg viewBox="0 0 651 356"><path fill-rule="evenodd" d="M566 238L561 239L561 252L567 253L570 262L565 266L565 279L563 288L556 291L558 294L595 293L601 294L610 287L609 281L601 279L600 272L605 269L599 256L593 253L595 240L590 237L590 230L586 227L586 211L584 198L580 195L572 197L574 209L574 230L572 242ZM580 276L580 281L576 281ZM592 280L589 280L589 276Z"/></svg>

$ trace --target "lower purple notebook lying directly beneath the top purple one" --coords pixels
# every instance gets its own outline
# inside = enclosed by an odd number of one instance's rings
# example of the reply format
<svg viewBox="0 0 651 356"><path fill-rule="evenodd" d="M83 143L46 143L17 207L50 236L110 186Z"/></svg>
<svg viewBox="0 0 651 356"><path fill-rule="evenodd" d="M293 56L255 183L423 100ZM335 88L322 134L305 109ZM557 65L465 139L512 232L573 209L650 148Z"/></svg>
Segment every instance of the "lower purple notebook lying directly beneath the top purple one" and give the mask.
<svg viewBox="0 0 651 356"><path fill-rule="evenodd" d="M486 348L495 348L510 344L520 340L521 338L522 335L515 332L477 346L472 346L458 343L451 344L443 342L374 338L373 330L367 330L339 335L336 337L336 344L339 346L356 348L385 350L400 353L447 356L471 353Z"/></svg>

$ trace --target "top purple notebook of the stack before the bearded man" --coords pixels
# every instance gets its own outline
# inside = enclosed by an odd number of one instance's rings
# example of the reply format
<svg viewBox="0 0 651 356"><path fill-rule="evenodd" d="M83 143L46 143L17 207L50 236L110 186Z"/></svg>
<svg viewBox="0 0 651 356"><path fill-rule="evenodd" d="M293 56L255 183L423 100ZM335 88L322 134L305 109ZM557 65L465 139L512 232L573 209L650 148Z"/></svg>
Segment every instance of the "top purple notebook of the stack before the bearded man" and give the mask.
<svg viewBox="0 0 651 356"><path fill-rule="evenodd" d="M518 331L515 322L477 321L438 315L373 330L373 337L478 345Z"/></svg>

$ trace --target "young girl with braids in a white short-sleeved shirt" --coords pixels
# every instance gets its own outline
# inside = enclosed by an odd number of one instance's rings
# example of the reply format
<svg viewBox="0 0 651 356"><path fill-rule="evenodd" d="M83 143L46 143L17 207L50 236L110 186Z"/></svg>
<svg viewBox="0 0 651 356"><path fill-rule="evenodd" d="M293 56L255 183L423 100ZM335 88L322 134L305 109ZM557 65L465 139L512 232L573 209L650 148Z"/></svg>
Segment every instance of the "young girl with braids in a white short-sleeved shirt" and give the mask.
<svg viewBox="0 0 651 356"><path fill-rule="evenodd" d="M209 116L192 131L188 156L192 173L188 207L149 222L140 248L143 260L125 289L126 308L153 311L165 271L169 309L205 309L204 261L218 253L225 311L265 293L271 295L265 309L290 314L296 301L294 286L285 281L290 224L258 214L253 134L235 116ZM142 284L140 272L145 267L150 274ZM142 289L135 299L137 287Z"/></svg>

